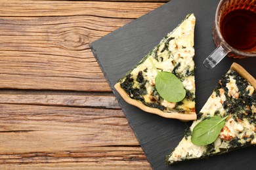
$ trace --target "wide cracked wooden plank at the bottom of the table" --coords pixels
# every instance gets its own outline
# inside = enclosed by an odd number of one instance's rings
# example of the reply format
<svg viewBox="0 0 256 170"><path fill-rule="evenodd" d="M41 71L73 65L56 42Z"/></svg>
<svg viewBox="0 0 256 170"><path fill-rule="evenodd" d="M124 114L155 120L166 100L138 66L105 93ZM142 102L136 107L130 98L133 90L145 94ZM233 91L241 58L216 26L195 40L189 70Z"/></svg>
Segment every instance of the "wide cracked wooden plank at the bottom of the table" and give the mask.
<svg viewBox="0 0 256 170"><path fill-rule="evenodd" d="M149 167L119 109L0 104L0 143L0 169Z"/></svg>

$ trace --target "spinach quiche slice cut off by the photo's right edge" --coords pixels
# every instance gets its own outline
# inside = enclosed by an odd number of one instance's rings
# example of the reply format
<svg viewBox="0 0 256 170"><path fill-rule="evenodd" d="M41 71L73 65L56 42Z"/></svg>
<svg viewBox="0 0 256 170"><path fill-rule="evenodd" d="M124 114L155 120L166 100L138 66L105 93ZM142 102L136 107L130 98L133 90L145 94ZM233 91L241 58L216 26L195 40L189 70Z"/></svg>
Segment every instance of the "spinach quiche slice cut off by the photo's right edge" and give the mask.
<svg viewBox="0 0 256 170"><path fill-rule="evenodd" d="M194 120L167 163L205 158L256 144L256 80L245 69L233 63ZM213 116L224 120L224 126L213 143L198 146L192 143L197 124ZM213 133L211 131L211 133ZM209 138L208 138L209 139Z"/></svg>

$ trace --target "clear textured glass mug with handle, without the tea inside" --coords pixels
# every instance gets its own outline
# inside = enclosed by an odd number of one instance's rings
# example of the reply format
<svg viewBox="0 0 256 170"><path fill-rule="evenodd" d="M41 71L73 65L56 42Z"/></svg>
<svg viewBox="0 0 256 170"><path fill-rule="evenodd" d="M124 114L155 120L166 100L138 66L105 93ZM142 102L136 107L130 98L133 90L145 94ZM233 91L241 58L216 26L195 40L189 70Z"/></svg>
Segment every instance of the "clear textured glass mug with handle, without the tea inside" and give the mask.
<svg viewBox="0 0 256 170"><path fill-rule="evenodd" d="M215 22L213 26L213 39L217 48L203 61L203 65L208 69L211 69L217 65L224 56L233 58L247 58L256 56L256 46L253 48L244 50L234 47L234 45L228 43L224 39L223 22L224 16L229 12L234 13L234 10L249 10L256 14L256 0L221 0L215 13ZM256 20L256 18L254 18ZM252 25L252 28L254 26ZM225 27L224 27L225 29ZM253 39L256 42L256 27L253 28ZM255 44L255 43L254 43Z"/></svg>

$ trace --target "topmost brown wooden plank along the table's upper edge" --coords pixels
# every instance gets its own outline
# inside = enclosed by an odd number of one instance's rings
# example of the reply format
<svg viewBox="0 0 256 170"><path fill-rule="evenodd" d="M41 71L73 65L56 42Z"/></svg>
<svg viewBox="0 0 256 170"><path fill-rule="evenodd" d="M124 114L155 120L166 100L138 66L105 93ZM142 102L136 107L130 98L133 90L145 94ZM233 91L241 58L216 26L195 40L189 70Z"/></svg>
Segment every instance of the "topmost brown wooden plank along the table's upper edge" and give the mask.
<svg viewBox="0 0 256 170"><path fill-rule="evenodd" d="M164 3L108 1L1 1L0 16L100 16L138 18Z"/></svg>

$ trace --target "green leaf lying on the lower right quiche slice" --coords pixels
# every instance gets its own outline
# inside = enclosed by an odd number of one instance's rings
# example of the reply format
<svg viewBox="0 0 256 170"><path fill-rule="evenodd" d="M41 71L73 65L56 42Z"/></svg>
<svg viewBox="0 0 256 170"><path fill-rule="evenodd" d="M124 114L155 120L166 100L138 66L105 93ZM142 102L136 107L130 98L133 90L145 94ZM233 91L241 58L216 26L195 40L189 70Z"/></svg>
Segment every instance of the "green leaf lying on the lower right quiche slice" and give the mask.
<svg viewBox="0 0 256 170"><path fill-rule="evenodd" d="M192 131L192 143L199 146L213 143L221 133L227 117L213 116L199 122Z"/></svg>

